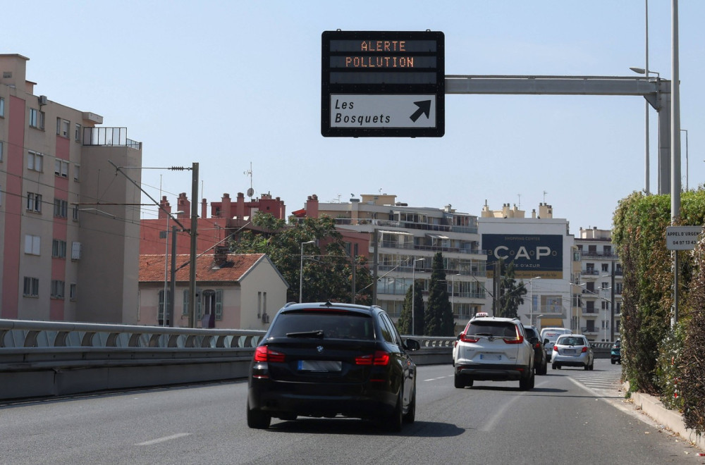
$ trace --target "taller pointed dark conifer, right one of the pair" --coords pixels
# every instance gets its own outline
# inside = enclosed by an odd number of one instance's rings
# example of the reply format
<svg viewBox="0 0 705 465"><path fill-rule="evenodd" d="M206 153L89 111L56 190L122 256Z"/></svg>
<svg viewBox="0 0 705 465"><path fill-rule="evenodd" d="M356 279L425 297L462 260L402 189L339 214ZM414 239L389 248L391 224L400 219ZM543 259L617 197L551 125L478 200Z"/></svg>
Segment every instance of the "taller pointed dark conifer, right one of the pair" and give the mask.
<svg viewBox="0 0 705 465"><path fill-rule="evenodd" d="M450 308L446 268L443 266L443 254L436 252L431 265L429 281L429 302L426 308L426 330L429 336L453 336L455 322L453 309Z"/></svg>

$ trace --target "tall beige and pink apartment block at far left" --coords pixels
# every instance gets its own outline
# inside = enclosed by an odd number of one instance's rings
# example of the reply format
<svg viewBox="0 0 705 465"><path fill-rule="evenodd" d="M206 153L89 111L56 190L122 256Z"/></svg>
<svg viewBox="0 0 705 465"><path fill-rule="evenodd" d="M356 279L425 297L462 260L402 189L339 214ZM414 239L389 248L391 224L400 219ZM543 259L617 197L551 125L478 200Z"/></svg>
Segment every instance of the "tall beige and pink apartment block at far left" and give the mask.
<svg viewBox="0 0 705 465"><path fill-rule="evenodd" d="M28 60L0 54L0 316L133 322L141 193L116 166L142 144L36 95Z"/></svg>

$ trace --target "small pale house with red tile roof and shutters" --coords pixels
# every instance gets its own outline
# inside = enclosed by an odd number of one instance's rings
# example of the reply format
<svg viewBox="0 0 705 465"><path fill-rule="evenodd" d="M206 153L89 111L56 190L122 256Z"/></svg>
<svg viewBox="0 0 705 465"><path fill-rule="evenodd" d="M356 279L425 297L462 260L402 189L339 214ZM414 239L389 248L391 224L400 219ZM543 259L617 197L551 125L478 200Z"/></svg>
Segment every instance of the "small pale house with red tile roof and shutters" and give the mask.
<svg viewBox="0 0 705 465"><path fill-rule="evenodd" d="M176 268L188 263L188 254L176 255ZM164 254L140 256L140 306L133 322L138 325L189 327L189 267L176 272L173 314L164 302L171 301L166 270L171 262ZM264 254L212 254L196 260L196 327L263 330L286 304L288 284Z"/></svg>

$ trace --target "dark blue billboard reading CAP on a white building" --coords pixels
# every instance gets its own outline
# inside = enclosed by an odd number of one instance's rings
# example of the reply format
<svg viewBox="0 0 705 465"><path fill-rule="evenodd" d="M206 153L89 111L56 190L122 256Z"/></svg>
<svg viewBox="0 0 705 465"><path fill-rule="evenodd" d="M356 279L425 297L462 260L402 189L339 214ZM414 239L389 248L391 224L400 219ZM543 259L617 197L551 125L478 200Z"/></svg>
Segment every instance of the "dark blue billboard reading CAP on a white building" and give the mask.
<svg viewBox="0 0 705 465"><path fill-rule="evenodd" d="M563 236L558 234L483 234L487 251L487 277L494 276L494 263L514 262L517 279L563 279Z"/></svg>

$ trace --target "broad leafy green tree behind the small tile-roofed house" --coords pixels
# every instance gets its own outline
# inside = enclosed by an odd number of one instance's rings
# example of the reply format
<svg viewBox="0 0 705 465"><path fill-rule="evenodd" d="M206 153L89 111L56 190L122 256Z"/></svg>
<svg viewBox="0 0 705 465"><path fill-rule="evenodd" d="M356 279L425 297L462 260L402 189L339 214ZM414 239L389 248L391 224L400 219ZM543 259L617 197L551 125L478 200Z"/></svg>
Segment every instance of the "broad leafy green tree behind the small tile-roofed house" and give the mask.
<svg viewBox="0 0 705 465"><path fill-rule="evenodd" d="M299 301L300 270L303 268L303 297L306 302L352 302L353 275L355 302L372 303L372 275L363 256L350 257L345 250L341 233L333 218L304 218L290 224L274 218L270 213L258 212L252 225L258 230L247 230L238 242L231 244L238 254L266 254L289 284L288 302ZM301 244L304 246L301 266ZM321 251L321 244L324 250Z"/></svg>

